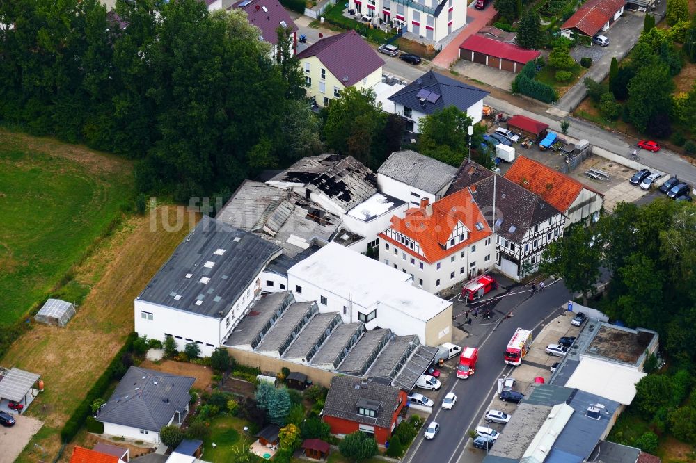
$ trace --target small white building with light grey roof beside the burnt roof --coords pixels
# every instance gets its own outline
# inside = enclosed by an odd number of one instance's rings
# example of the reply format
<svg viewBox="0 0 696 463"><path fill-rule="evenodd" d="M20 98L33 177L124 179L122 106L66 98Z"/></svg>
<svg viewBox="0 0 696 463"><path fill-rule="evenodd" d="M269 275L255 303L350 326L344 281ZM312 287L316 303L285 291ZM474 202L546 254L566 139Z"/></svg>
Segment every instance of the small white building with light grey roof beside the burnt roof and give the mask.
<svg viewBox="0 0 696 463"><path fill-rule="evenodd" d="M377 169L382 193L420 207L440 200L457 175L457 168L406 149L392 153Z"/></svg>

